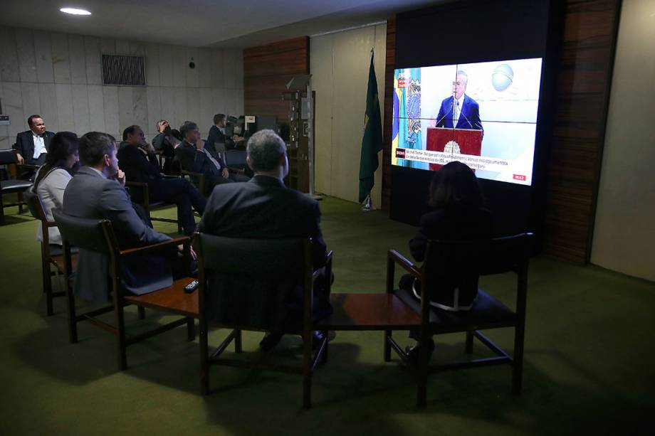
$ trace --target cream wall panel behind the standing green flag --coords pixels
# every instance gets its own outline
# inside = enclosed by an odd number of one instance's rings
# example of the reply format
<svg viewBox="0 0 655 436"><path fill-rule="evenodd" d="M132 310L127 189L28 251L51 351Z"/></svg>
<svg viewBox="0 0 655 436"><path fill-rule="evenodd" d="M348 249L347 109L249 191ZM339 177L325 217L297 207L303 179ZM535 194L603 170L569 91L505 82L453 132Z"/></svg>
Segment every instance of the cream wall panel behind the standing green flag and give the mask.
<svg viewBox="0 0 655 436"><path fill-rule="evenodd" d="M310 73L316 91L316 191L357 201L360 187L360 152L370 50L375 48L380 116L384 117L384 58L387 25L316 36L310 40ZM371 193L379 208L382 192L382 151Z"/></svg>

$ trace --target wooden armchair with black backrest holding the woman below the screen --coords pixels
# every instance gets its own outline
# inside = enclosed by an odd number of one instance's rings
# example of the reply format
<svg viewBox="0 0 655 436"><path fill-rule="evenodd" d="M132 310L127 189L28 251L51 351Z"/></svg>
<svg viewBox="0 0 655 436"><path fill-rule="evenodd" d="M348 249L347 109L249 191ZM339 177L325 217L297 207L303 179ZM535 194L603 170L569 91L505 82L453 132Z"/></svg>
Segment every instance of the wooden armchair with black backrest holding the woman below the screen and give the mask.
<svg viewBox="0 0 655 436"><path fill-rule="evenodd" d="M512 367L512 392L521 392L523 380L523 336L525 331L525 302L528 291L528 263L532 233L494 238L486 241L429 241L425 262L417 267L395 250L389 250L387 260L387 293L396 295L414 311L421 315L419 328L420 351L418 362L412 363L408 355L392 337L392 329L387 329L384 337L384 360L389 361L391 350L416 371L418 390L416 401L419 406L426 403L427 376L430 372L451 369L471 368L508 364ZM420 281L421 295L429 294L437 283L462 283L471 278L477 283L481 275L503 272L516 274L515 309L478 290L478 297L471 310L449 312L431 307L429 299L419 302L411 291L394 289L394 266L400 265L409 275ZM484 336L480 330L512 327L514 329L513 356L503 351ZM433 335L466 332L465 351L473 351L473 339L491 349L496 357L479 358L441 365L429 363L429 341Z"/></svg>

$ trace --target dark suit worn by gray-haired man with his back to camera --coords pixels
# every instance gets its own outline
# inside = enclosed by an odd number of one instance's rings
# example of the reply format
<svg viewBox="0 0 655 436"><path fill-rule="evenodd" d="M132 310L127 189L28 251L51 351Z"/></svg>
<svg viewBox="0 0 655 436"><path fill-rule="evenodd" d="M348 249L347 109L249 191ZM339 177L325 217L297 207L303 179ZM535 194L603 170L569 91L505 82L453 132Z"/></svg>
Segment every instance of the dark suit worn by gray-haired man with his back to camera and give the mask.
<svg viewBox="0 0 655 436"><path fill-rule="evenodd" d="M214 188L207 201L207 208L199 224L199 230L213 235L231 238L282 239L312 238L313 267L325 265L325 241L320 230L318 202L284 186L279 179L254 176L247 183L224 184ZM303 291L299 282L276 282L271 277L226 277L214 275L210 279L207 307L214 317L258 324L262 319L269 322L273 331L298 329L303 307ZM274 290L283 289L283 302L271 304ZM314 317L331 313L329 295L325 291L325 277L315 285ZM278 292L279 294L279 292ZM224 301L248 299L254 307L248 313Z"/></svg>

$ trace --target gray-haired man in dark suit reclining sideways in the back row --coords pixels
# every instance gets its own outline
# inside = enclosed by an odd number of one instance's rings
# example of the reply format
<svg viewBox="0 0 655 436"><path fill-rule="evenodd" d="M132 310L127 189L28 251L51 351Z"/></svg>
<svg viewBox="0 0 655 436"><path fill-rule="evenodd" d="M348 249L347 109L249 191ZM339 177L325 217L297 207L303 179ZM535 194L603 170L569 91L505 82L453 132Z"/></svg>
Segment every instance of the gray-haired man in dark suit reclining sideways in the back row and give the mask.
<svg viewBox="0 0 655 436"><path fill-rule="evenodd" d="M214 186L234 181L248 181L248 177L241 174L231 174L225 164L224 156L212 153L205 147L204 141L200 139L198 125L194 122L186 122L179 128L180 134L184 137L182 144L177 147L177 156L182 169L204 174L206 184L204 194L208 195Z"/></svg>

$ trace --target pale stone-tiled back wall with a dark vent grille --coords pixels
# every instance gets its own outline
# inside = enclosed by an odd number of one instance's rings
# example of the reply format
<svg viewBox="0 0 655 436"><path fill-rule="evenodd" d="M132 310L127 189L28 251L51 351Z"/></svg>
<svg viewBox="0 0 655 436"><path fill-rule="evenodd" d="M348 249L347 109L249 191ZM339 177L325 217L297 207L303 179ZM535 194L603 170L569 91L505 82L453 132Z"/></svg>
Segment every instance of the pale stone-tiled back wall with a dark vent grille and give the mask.
<svg viewBox="0 0 655 436"><path fill-rule="evenodd" d="M103 86L100 53L145 55L147 86ZM214 114L243 113L243 55L0 26L0 98L11 117L11 125L0 126L0 149L28 129L32 114L53 132L98 130L120 138L122 129L139 124L152 139L163 118L173 128L195 121L206 135Z"/></svg>

